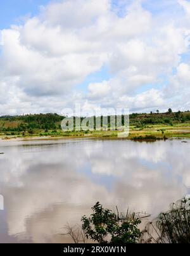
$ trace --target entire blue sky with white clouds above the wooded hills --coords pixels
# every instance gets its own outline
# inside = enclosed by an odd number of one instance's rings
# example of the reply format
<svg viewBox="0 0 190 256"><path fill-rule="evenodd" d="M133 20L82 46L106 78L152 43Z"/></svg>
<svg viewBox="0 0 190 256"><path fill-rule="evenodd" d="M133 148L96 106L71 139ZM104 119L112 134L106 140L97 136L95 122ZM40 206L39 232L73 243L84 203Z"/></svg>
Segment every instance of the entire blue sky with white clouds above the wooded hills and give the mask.
<svg viewBox="0 0 190 256"><path fill-rule="evenodd" d="M0 115L190 109L190 1L0 3Z"/></svg>

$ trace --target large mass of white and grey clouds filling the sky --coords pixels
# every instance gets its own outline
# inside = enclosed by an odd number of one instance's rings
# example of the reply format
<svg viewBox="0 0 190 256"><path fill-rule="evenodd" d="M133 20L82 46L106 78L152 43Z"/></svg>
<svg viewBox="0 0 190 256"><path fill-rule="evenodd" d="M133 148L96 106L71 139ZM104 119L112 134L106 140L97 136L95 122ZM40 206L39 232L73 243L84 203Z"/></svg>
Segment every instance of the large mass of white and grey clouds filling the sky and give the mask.
<svg viewBox="0 0 190 256"><path fill-rule="evenodd" d="M23 109L32 113L47 109L59 112L60 106L72 104L71 100L96 106L102 98L103 104L109 106L121 105L120 100L127 98L129 108L137 110L138 106L167 105L164 94L170 86L156 93L154 89L142 94L137 90L146 84L158 84L163 77L166 81L176 80L174 68L179 79L181 54L189 51L190 25L181 12L174 17L165 11L163 20L162 15L145 10L141 2L124 1L122 16L117 15L117 7L114 10L110 0L54 2L23 25L1 30L0 78L6 80L7 95L14 93L16 99L15 107L9 96L6 104L0 101L4 108L1 113L22 113ZM174 4L183 6L188 13L189 2L181 0ZM88 91L74 98L77 85L103 66L108 68L111 78L105 80L103 75L102 82L96 82L95 75ZM1 91L4 86L1 82ZM179 91L173 90L174 93ZM153 98L147 101L149 94ZM184 99L182 93L181 98Z"/></svg>

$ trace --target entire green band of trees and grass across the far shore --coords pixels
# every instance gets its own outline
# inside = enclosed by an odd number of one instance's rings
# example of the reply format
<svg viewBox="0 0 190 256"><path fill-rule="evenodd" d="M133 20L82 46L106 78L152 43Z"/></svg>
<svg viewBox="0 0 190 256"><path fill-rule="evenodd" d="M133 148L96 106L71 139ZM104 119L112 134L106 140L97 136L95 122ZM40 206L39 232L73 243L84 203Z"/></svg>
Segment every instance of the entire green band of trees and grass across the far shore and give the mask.
<svg viewBox="0 0 190 256"><path fill-rule="evenodd" d="M119 131L111 129L110 117L108 117L108 129L104 131L103 117L101 117L101 131L62 131L61 121L63 116L56 113L38 115L20 115L0 117L1 138L27 138L27 137L97 137L117 138ZM93 118L93 117L92 117ZM166 113L132 113L130 114L130 134L128 139L154 141L172 137L190 137L190 112ZM81 121L84 118L81 118ZM95 118L94 118L95 120ZM122 116L124 124L124 115ZM95 125L94 125L95 126ZM94 128L94 127L92 127Z"/></svg>

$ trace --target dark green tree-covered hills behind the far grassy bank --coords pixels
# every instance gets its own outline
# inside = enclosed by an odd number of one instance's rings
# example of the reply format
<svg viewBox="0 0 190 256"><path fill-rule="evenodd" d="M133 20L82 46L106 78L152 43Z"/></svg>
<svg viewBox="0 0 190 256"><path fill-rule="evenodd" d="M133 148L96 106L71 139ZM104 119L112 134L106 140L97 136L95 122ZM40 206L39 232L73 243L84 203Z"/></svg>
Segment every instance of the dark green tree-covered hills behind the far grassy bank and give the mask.
<svg viewBox="0 0 190 256"><path fill-rule="evenodd" d="M61 121L65 118L57 113L34 114L34 115L17 115L17 116L3 116L0 117L0 131L1 132L22 132L33 130L56 130L61 129ZM84 117L81 117L81 122ZM122 125L124 125L124 115L122 115ZM129 115L130 125L134 127L144 127L153 124L173 125L177 123L184 123L190 121L190 112L172 112L168 109L167 113L132 113ZM96 117L94 117L94 124ZM13 125L14 124L14 125ZM103 124L103 117L101 117L101 125ZM108 127L110 127L110 117L108 117Z"/></svg>

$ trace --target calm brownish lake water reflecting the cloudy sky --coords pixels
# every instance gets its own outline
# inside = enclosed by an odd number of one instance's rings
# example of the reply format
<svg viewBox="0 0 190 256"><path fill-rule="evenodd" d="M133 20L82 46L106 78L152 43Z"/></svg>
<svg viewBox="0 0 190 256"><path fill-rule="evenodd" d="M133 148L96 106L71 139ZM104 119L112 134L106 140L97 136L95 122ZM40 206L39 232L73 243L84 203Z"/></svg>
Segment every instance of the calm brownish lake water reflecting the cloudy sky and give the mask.
<svg viewBox="0 0 190 256"><path fill-rule="evenodd" d="M0 242L68 242L66 222L94 203L153 215L189 193L189 143L4 141L0 143Z"/></svg>

